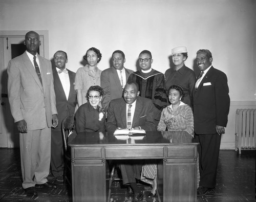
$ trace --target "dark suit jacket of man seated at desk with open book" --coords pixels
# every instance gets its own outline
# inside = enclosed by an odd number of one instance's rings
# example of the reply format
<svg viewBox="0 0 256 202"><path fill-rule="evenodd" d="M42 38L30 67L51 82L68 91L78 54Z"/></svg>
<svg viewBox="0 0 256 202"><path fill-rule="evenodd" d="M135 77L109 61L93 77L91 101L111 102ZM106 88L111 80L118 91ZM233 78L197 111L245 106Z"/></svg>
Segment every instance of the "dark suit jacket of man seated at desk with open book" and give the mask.
<svg viewBox="0 0 256 202"><path fill-rule="evenodd" d="M145 131L156 130L154 110L155 106L152 100L137 97L132 127L140 126ZM113 134L117 127L127 127L126 102L123 98L111 100L108 109L108 119L106 122L108 133Z"/></svg>

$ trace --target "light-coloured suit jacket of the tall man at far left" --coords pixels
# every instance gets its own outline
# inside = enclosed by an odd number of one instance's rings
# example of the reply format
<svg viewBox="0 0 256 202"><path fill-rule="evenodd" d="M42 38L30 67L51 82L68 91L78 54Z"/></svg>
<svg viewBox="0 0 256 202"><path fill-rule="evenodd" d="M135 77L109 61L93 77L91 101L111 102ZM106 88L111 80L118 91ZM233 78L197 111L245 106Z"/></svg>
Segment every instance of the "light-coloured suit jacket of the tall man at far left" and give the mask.
<svg viewBox="0 0 256 202"><path fill-rule="evenodd" d="M27 53L8 64L8 96L14 122L25 120L28 130L52 126L57 114L51 62L38 55L42 84Z"/></svg>

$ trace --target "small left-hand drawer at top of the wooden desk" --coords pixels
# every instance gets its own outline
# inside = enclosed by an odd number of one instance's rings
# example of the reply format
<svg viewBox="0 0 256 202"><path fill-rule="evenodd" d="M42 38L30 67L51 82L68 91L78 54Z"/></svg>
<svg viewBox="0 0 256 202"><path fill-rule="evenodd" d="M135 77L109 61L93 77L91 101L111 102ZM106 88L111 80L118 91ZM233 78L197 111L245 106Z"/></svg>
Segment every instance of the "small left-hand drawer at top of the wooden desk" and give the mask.
<svg viewBox="0 0 256 202"><path fill-rule="evenodd" d="M74 158L102 158L101 147L98 148L74 148Z"/></svg>

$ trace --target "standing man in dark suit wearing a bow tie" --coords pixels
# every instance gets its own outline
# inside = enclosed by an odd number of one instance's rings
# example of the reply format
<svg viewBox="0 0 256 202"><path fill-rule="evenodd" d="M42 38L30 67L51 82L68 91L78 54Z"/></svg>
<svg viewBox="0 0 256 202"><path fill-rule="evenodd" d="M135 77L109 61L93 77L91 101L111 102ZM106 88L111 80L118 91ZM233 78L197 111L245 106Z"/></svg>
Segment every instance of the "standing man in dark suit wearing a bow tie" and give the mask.
<svg viewBox="0 0 256 202"><path fill-rule="evenodd" d="M60 124L52 128L51 137L51 171L57 181L63 182L63 140L61 135L61 122L75 113L76 92L74 89L75 73L66 69L68 55L64 51L57 51L54 56L53 80L56 95L56 107Z"/></svg>

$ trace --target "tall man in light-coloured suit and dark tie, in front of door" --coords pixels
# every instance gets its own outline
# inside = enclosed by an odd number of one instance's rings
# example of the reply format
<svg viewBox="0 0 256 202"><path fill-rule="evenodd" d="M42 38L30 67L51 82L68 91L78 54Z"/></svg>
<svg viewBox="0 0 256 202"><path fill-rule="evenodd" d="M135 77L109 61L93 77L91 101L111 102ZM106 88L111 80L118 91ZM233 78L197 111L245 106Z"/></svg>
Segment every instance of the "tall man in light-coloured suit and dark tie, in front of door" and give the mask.
<svg viewBox="0 0 256 202"><path fill-rule="evenodd" d="M51 127L58 125L51 62L37 54L39 35L26 34L24 54L8 64L8 96L20 142L23 188L55 188L47 181L51 160Z"/></svg>

